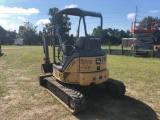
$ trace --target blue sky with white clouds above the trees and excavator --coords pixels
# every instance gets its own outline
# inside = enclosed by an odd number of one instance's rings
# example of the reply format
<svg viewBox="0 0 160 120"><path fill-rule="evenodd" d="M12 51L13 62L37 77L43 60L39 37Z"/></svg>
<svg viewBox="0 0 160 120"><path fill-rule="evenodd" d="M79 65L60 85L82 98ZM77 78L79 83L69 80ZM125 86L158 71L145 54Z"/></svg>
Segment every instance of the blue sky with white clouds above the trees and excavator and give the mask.
<svg viewBox="0 0 160 120"><path fill-rule="evenodd" d="M77 7L100 12L103 29L130 30L131 23L144 17L160 18L160 0L0 0L0 25L18 31L20 25L30 22L42 30L49 23L49 8ZM137 14L136 13L137 6Z"/></svg>

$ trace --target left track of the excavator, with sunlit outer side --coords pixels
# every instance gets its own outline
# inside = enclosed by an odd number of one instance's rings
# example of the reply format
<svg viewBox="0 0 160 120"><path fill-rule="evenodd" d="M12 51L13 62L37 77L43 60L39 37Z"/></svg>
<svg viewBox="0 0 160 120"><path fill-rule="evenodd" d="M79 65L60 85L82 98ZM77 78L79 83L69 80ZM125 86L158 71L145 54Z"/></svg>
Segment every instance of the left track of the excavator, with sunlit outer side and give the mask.
<svg viewBox="0 0 160 120"><path fill-rule="evenodd" d="M53 76L41 76L39 77L39 83L71 113L75 114L85 109L85 97L71 86L57 81Z"/></svg>

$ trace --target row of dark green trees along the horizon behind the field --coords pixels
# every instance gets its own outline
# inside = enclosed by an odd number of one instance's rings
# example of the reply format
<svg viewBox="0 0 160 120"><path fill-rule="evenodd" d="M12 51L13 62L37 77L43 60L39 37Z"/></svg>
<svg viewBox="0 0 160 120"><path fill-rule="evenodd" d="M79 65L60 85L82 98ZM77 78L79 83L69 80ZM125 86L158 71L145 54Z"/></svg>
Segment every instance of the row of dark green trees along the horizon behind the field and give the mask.
<svg viewBox="0 0 160 120"><path fill-rule="evenodd" d="M50 23L46 24L46 27L54 25L54 15L59 9L54 7L50 8L48 15L50 15ZM69 37L69 30L71 22L69 17L58 16L58 25L61 26L60 32L67 37ZM158 17L148 16L143 18L142 23L147 23L148 25L151 22L156 22L157 29L154 32L154 43L160 44L160 19ZM95 28L92 32L93 35L98 34L100 30L99 27ZM30 22L25 22L24 25L19 26L19 31L7 31L2 26L0 26L0 40L3 45L12 45L14 44L14 39L21 37L24 40L25 45L41 45L42 44L42 31L37 31L37 26L34 26ZM107 28L102 30L102 44L112 44L119 45L121 44L122 38L131 38L132 35L129 30L119 30L113 28Z"/></svg>

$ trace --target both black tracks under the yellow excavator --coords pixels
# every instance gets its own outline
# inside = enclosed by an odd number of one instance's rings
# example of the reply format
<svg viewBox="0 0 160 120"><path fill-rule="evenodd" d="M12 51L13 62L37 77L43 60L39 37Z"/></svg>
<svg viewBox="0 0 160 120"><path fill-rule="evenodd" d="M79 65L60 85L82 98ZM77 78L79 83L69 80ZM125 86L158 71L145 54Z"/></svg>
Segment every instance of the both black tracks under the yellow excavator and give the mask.
<svg viewBox="0 0 160 120"><path fill-rule="evenodd" d="M84 96L84 87L77 87L59 82L52 75L39 77L39 84L46 88L46 90L61 102L71 113L78 113L85 110L86 99ZM105 83L97 85L96 87L119 97L125 94L124 84L113 79L109 79Z"/></svg>

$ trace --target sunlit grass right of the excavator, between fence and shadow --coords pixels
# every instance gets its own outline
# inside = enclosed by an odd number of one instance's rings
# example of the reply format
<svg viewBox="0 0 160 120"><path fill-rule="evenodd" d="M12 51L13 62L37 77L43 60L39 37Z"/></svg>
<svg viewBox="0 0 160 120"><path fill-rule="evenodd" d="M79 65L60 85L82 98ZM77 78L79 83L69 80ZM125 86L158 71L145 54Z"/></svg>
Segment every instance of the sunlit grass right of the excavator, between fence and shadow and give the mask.
<svg viewBox="0 0 160 120"><path fill-rule="evenodd" d="M159 65L158 58L108 55L110 77L122 81L126 86L127 95L148 104L158 114L160 113Z"/></svg>

